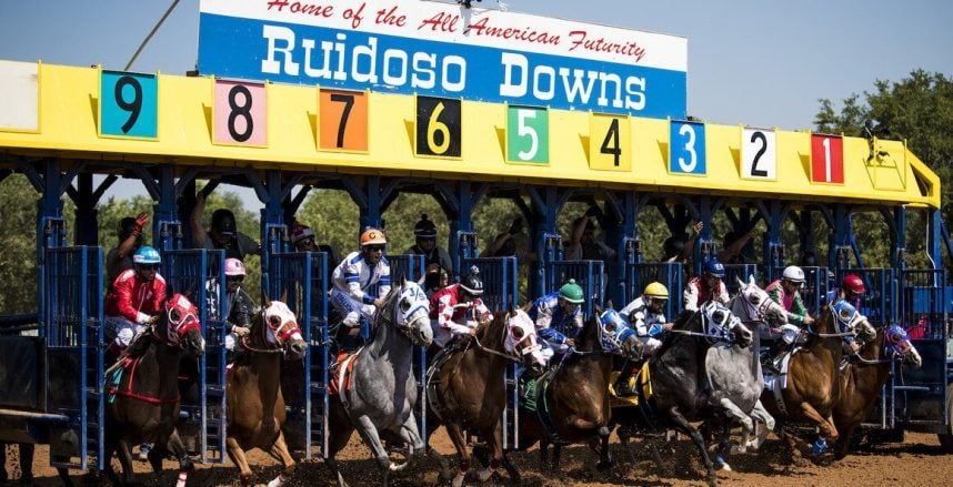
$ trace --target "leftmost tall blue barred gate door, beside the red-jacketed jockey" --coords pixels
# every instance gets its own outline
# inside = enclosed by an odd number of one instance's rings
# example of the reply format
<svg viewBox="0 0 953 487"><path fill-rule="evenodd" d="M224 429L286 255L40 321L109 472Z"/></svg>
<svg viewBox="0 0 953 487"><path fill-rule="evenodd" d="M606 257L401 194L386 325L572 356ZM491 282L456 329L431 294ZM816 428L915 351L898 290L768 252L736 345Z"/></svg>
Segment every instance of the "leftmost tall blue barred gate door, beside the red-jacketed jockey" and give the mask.
<svg viewBox="0 0 953 487"><path fill-rule="evenodd" d="M103 468L102 248L47 250L43 324L47 410L69 417L50 427L50 464Z"/></svg>

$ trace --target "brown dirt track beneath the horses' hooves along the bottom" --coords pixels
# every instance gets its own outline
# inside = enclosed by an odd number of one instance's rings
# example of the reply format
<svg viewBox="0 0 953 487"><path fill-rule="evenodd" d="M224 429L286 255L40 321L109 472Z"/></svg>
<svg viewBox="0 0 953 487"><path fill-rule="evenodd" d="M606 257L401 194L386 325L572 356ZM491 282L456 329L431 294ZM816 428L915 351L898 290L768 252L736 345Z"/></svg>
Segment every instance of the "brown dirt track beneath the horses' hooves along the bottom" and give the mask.
<svg viewBox="0 0 953 487"><path fill-rule="evenodd" d="M452 447L441 432L434 436L431 445L444 455L452 453ZM619 460L610 471L598 471L594 468L595 457L588 448L569 447L563 452L563 465L560 474L550 474L549 467L542 468L539 463L539 452L512 454L511 458L523 474L523 485L529 486L629 486L629 485L702 485L702 469L695 459L694 450L686 440L672 442L660 448L668 461L670 473L660 473L652 461L646 447L636 445L633 448L634 464L619 444L613 445L613 453ZM950 485L953 477L953 455L945 455L936 439L936 435L909 433L903 443L881 444L873 447L861 447L833 465L814 465L802 461L792 464L785 458L785 453L776 439L769 439L763 452L736 456L732 460L735 471L721 471L719 478L724 485L742 486L941 486ZM251 455L253 463L262 465L255 469L257 480L267 483L278 475L279 467L274 461L260 452ZM357 435L351 444L342 452L344 475L353 486L374 486L380 484L377 466L370 458L370 452L358 442ZM46 465L47 448L37 448L34 461L34 485L57 486L56 471ZM7 471L11 478L19 477L16 465L16 449L8 447ZM114 461L118 468L118 463ZM157 480L151 475L139 475L147 485L173 485L175 480L172 461L165 463L167 471ZM144 463L137 463L137 471L148 471ZM439 485L437 466L424 461L410 473L392 476L392 485L418 486ZM80 477L74 477L80 481ZM87 479L89 480L89 479ZM224 466L200 466L190 478L190 485L239 485L238 470L231 463ZM331 485L328 469L321 461L311 461L300 466L295 478L289 485L324 486ZM106 484L91 481L92 485ZM472 483L468 484L472 485ZM488 483L486 485L492 485Z"/></svg>

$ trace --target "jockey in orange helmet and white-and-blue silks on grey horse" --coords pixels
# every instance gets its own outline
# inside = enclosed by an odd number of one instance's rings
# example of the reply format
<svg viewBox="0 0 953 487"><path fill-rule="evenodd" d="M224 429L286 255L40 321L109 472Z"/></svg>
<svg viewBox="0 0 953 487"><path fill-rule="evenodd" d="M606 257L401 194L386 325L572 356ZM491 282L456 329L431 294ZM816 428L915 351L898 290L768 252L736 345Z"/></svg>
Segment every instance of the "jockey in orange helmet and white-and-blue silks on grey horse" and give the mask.
<svg viewBox="0 0 953 487"><path fill-rule="evenodd" d="M351 252L334 267L331 276L331 304L344 317L343 325L348 335L360 333L362 338L370 336L370 329L362 329L361 321L370 323L384 296L391 291L391 266L384 258L388 240L378 229L368 229L361 234L361 250ZM378 296L368 291L378 286Z"/></svg>

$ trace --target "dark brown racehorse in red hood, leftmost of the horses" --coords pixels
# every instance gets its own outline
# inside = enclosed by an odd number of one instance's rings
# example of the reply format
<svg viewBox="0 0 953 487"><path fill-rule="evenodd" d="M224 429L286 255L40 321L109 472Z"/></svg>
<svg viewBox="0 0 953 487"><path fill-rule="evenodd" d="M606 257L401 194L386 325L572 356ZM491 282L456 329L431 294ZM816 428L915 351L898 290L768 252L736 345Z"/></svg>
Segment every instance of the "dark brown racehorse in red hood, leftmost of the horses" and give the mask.
<svg viewBox="0 0 953 487"><path fill-rule="evenodd" d="M122 484L133 481L130 445L154 443L149 463L156 473L162 470L162 458L172 452L179 460L179 484L192 469L185 447L179 438L179 363L182 353L197 358L205 351L198 310L185 296L174 294L160 310L158 321L130 345L131 355L122 358L106 377L106 473L120 484L110 459L118 454L122 465ZM132 348L148 341L148 348L134 357Z"/></svg>

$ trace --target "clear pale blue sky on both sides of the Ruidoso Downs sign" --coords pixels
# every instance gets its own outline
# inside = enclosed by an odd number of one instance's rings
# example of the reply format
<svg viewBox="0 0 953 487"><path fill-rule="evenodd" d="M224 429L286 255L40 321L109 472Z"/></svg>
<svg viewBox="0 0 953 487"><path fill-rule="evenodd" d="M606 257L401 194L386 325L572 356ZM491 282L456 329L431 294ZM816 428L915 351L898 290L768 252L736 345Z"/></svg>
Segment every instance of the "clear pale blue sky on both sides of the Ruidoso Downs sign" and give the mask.
<svg viewBox="0 0 953 487"><path fill-rule="evenodd" d="M0 59L121 70L171 4L0 0ZM900 81L916 69L953 77L949 0L509 0L506 6L685 37L688 112L711 123L811 129L820 99L840 102L872 91L875 80ZM197 0L180 1L132 70L183 74L194 69L198 17Z"/></svg>

